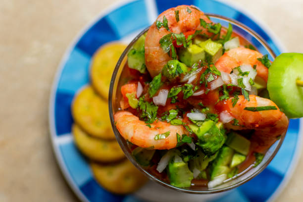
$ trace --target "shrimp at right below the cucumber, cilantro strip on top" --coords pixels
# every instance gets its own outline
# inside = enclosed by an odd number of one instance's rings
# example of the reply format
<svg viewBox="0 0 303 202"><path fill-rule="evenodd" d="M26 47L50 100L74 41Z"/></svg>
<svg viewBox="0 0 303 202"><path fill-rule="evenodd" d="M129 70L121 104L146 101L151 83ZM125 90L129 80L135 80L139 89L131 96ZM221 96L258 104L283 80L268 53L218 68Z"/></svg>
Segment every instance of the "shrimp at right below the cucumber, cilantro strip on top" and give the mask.
<svg viewBox="0 0 303 202"><path fill-rule="evenodd" d="M229 113L238 120L225 124L225 127L232 130L254 129L252 136L252 147L255 152L267 150L279 136L284 135L288 128L289 120L280 111L279 107L271 100L255 95L249 96L250 101L244 96L239 96L239 100L233 106L233 98L218 103L219 111ZM277 109L264 111L248 111L245 107L275 106ZM221 117L220 117L221 118Z"/></svg>

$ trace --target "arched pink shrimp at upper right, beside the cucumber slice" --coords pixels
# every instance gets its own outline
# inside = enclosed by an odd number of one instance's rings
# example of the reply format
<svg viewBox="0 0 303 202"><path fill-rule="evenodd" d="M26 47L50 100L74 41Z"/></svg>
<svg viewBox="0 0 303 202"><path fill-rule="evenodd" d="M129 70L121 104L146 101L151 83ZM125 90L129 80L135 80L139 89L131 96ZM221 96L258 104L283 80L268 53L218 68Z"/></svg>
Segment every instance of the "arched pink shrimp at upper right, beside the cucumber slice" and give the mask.
<svg viewBox="0 0 303 202"><path fill-rule="evenodd" d="M261 78L265 84L268 78L268 68L265 67L257 58L262 54L256 50L243 47L226 51L215 63L219 71L230 73L233 68L242 64L256 65L257 77Z"/></svg>

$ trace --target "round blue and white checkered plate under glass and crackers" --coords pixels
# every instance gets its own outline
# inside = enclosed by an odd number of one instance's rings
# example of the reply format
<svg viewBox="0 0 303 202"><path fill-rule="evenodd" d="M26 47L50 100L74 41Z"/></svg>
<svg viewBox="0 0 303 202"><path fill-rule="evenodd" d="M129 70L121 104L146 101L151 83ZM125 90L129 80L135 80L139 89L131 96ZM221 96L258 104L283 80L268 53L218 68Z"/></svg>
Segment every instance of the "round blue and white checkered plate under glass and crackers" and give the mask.
<svg viewBox="0 0 303 202"><path fill-rule="evenodd" d="M215 0L135 0L122 1L101 13L65 52L50 95L50 135L58 164L68 184L84 202L207 201L263 202L273 200L284 188L300 153L303 123L291 120L284 143L269 166L257 177L232 191L216 195L190 195L148 183L133 195L117 196L98 185L86 159L76 149L71 135L71 101L89 83L89 64L93 53L104 43L131 41L156 16L179 4L193 4L204 12L236 19L257 32L279 55L283 50L260 23L243 10ZM301 127L300 127L301 125Z"/></svg>

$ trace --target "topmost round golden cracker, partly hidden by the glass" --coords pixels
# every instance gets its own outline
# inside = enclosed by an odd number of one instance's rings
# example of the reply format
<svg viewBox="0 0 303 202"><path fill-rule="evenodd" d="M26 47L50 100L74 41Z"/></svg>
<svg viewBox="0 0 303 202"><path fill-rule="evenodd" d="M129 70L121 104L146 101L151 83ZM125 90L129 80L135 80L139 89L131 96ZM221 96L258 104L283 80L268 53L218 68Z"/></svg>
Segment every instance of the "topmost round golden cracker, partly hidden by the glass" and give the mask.
<svg viewBox="0 0 303 202"><path fill-rule="evenodd" d="M93 56L91 63L91 81L93 87L103 98L108 99L108 90L112 72L126 45L114 42L101 46Z"/></svg>

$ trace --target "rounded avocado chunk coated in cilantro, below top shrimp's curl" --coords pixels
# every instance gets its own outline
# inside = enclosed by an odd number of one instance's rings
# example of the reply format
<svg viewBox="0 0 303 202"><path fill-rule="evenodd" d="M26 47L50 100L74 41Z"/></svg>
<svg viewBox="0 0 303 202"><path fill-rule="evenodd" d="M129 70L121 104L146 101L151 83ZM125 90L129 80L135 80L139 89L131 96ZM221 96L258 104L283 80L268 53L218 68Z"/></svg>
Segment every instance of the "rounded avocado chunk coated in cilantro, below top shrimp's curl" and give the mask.
<svg viewBox="0 0 303 202"><path fill-rule="evenodd" d="M169 60L163 67L162 73L168 79L174 79L188 72L188 67L177 59Z"/></svg>

